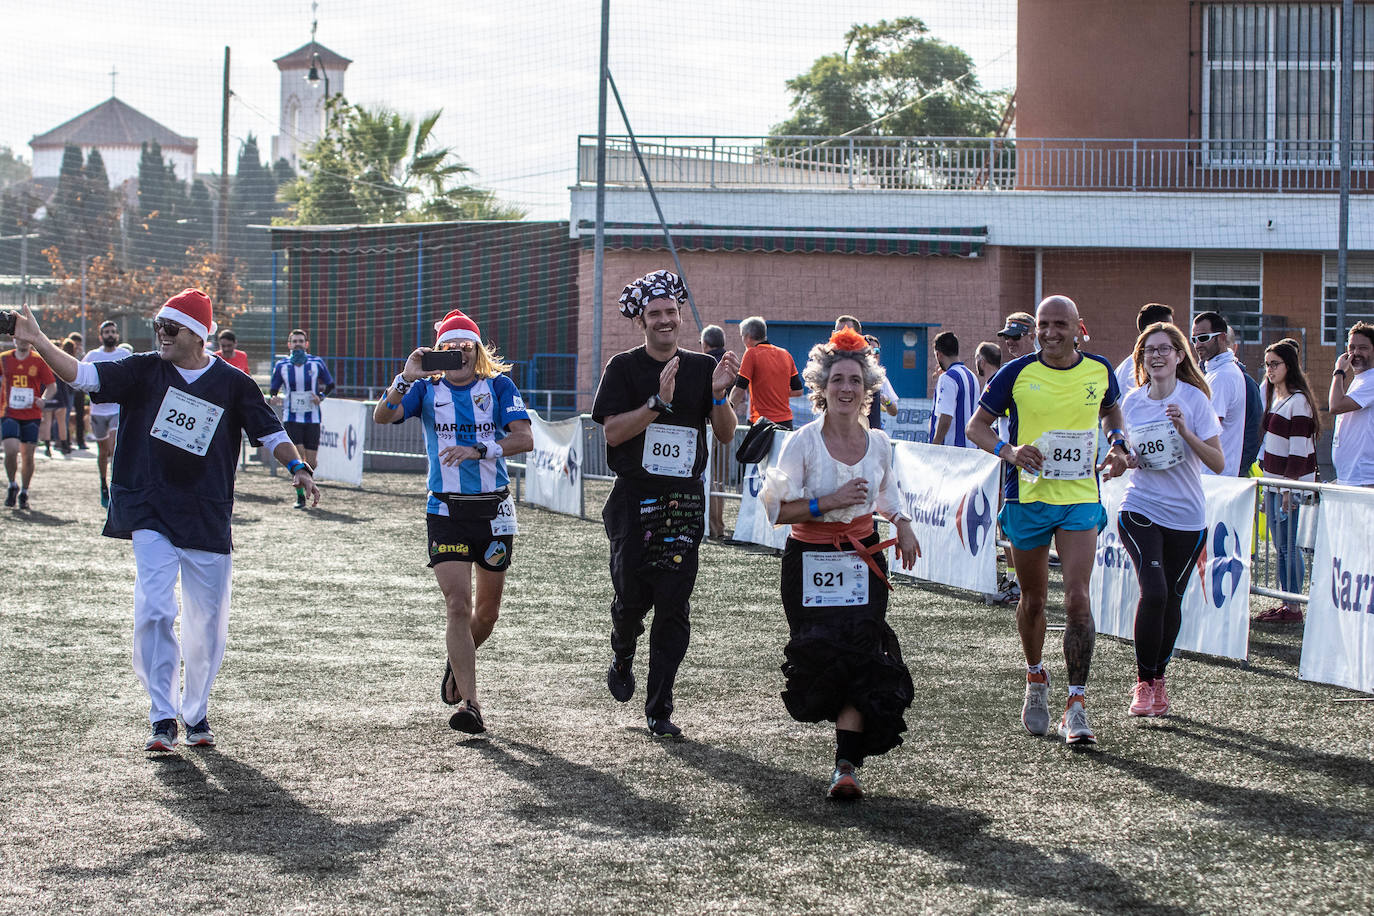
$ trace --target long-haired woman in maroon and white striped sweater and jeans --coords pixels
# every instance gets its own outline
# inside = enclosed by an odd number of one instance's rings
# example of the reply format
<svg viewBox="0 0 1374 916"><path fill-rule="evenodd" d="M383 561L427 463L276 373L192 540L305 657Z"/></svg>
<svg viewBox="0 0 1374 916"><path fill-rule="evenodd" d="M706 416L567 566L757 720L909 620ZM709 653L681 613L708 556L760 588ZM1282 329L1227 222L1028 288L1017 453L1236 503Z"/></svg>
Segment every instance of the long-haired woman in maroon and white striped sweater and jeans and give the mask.
<svg viewBox="0 0 1374 916"><path fill-rule="evenodd" d="M1260 468L1265 477L1316 481L1316 437L1320 419L1312 409L1312 389L1298 364L1297 342L1285 338L1264 350L1264 444ZM1270 544L1278 559L1279 589L1303 591L1303 551L1297 547L1300 493L1265 488L1264 514L1270 523ZM1287 602L1271 607L1254 619L1289 623L1303 619L1303 611Z"/></svg>

